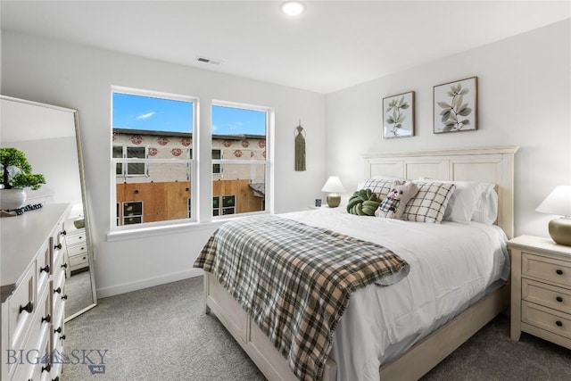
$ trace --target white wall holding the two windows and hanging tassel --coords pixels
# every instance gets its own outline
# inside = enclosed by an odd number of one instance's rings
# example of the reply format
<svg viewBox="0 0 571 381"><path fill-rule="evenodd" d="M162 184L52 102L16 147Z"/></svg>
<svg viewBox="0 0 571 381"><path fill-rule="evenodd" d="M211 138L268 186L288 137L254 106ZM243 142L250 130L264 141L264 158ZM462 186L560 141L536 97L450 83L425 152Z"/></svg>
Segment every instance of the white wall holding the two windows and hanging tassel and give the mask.
<svg viewBox="0 0 571 381"><path fill-rule="evenodd" d="M199 97L201 134L210 130L213 99L273 107L275 211L306 209L314 198L322 196L320 188L326 179L324 95L3 31L2 94L79 110L99 296L200 274L191 270L192 264L214 229L107 240L112 85ZM294 128L300 118L307 132L308 170L295 172ZM204 199L203 209L207 209L210 202Z"/></svg>

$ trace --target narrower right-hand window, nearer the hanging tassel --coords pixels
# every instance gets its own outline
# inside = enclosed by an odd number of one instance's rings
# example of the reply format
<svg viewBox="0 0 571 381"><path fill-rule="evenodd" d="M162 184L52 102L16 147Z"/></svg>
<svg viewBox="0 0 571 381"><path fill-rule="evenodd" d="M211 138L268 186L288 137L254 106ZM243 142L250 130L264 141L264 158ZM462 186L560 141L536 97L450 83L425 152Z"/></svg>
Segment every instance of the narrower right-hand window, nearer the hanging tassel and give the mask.
<svg viewBox="0 0 571 381"><path fill-rule="evenodd" d="M212 216L265 210L268 126L268 109L212 105Z"/></svg>

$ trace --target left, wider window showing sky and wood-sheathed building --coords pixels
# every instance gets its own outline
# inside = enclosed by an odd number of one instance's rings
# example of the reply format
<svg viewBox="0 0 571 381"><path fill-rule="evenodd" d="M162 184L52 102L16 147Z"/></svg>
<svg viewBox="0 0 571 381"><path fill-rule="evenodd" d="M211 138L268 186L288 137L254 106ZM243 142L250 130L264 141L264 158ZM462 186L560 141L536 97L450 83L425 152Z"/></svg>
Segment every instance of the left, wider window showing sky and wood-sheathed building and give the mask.
<svg viewBox="0 0 571 381"><path fill-rule="evenodd" d="M194 99L112 90L115 228L192 219Z"/></svg>

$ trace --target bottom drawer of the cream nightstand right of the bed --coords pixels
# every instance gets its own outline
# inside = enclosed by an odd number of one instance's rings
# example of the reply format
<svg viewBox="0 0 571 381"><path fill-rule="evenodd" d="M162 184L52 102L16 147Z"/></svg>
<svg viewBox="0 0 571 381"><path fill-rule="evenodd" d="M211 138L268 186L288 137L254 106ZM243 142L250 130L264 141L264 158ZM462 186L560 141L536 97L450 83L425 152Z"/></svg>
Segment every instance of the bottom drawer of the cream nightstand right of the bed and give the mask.
<svg viewBox="0 0 571 381"><path fill-rule="evenodd" d="M521 321L571 339L571 316L538 304L522 302Z"/></svg>

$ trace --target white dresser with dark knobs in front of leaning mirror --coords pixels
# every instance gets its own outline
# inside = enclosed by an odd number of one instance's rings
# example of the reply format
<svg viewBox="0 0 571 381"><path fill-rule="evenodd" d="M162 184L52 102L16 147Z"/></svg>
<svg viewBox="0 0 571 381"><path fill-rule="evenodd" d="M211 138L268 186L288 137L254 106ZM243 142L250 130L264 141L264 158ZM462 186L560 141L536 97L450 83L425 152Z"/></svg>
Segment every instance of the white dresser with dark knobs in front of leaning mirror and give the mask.
<svg viewBox="0 0 571 381"><path fill-rule="evenodd" d="M2 380L59 380L62 373L69 204L0 219Z"/></svg>

